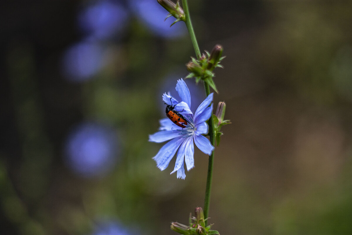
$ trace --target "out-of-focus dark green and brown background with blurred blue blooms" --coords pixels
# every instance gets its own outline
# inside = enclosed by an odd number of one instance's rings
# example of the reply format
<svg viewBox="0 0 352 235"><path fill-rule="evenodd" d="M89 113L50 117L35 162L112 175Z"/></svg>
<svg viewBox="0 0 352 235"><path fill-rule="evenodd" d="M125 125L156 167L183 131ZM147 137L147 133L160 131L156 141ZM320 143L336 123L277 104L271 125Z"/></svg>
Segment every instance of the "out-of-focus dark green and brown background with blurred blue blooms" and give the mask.
<svg viewBox="0 0 352 235"><path fill-rule="evenodd" d="M352 234L351 1L190 0L226 119L209 219L220 234ZM0 234L177 234L203 206L148 142L195 56L156 0L3 1ZM186 80L193 110L202 84Z"/></svg>

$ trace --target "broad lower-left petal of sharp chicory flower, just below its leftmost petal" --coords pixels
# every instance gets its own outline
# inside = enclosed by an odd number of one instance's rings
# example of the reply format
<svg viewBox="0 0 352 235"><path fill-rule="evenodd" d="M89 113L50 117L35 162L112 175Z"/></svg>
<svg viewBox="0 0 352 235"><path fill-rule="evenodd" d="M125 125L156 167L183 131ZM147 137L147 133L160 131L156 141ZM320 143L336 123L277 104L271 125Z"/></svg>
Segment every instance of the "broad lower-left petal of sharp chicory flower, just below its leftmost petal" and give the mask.
<svg viewBox="0 0 352 235"><path fill-rule="evenodd" d="M174 138L167 142L163 147L161 147L157 155L153 157L159 169L163 171L166 169L166 167L168 167L172 157L175 155L176 150L178 149L183 140L184 139L182 137Z"/></svg>

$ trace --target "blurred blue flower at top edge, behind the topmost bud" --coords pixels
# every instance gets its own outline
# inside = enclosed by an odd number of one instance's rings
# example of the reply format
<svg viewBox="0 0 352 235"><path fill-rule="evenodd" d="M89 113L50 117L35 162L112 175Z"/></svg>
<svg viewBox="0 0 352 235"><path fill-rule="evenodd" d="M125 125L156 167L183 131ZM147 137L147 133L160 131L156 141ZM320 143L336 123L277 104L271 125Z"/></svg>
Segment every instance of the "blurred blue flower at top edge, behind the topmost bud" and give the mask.
<svg viewBox="0 0 352 235"><path fill-rule="evenodd" d="M174 17L165 20L167 12L156 0L130 0L130 7L140 20L157 36L174 38L187 32L184 22L178 22L172 27Z"/></svg>

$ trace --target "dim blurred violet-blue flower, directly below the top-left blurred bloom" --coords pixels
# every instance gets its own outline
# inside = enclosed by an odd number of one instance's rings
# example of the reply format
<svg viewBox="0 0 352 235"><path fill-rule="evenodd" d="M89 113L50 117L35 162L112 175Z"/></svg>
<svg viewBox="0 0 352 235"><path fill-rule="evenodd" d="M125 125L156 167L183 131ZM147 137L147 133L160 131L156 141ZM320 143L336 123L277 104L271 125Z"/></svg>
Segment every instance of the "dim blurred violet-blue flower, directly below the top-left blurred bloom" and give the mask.
<svg viewBox="0 0 352 235"><path fill-rule="evenodd" d="M105 66L105 50L98 43L80 42L63 56L63 72L69 81L81 82L93 78Z"/></svg>

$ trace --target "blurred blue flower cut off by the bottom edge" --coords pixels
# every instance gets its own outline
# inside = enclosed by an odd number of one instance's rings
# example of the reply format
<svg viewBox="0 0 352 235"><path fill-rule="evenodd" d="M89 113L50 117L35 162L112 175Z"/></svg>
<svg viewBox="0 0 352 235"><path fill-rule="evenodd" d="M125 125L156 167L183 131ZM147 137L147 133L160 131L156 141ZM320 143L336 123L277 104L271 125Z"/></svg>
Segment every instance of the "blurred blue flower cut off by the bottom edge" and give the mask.
<svg viewBox="0 0 352 235"><path fill-rule="evenodd" d="M127 229L118 222L100 223L93 235L138 235L136 229Z"/></svg>

